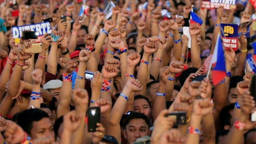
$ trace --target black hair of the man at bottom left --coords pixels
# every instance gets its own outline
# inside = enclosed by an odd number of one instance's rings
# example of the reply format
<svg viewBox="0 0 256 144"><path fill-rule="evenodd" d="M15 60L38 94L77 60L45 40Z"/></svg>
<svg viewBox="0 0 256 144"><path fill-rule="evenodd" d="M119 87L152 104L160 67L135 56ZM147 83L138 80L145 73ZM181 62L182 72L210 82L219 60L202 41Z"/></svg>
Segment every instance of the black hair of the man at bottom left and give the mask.
<svg viewBox="0 0 256 144"><path fill-rule="evenodd" d="M42 118L49 118L48 114L38 108L28 109L22 111L17 116L17 124L29 135L31 135L31 129L34 121L40 121Z"/></svg>

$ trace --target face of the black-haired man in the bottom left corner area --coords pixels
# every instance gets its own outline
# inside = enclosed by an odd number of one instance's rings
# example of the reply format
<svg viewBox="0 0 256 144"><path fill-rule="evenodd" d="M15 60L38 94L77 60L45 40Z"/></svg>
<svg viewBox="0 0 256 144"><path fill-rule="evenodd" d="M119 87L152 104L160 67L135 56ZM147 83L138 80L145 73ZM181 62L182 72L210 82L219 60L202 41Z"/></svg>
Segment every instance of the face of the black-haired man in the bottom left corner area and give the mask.
<svg viewBox="0 0 256 144"><path fill-rule="evenodd" d="M54 137L53 123L49 118L42 118L32 123L31 138Z"/></svg>

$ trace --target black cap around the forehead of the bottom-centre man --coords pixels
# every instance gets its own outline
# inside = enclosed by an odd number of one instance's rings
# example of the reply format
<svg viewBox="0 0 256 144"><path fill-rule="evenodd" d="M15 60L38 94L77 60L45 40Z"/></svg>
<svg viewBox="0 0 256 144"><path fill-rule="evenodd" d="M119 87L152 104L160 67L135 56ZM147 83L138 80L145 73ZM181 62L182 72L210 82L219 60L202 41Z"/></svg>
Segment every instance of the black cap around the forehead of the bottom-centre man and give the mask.
<svg viewBox="0 0 256 144"><path fill-rule="evenodd" d="M149 121L148 117L145 114L138 113L135 111L132 114L126 116L122 127L125 129L125 127L129 124L129 122L132 119L143 119L143 120L145 120L146 124L148 125L148 128L150 127L150 121Z"/></svg>

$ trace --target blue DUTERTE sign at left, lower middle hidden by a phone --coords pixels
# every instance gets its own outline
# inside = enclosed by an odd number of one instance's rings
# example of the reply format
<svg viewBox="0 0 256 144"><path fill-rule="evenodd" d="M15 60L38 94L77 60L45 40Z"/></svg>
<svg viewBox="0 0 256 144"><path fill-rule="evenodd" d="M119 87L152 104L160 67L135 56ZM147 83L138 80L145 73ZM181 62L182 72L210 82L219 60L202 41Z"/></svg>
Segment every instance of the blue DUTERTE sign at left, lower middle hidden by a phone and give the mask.
<svg viewBox="0 0 256 144"><path fill-rule="evenodd" d="M37 31L39 35L38 35L38 38L36 39L36 42L40 42L42 35L44 35L45 33L52 32L51 25L49 22L36 23L31 25L13 26L12 35L14 38L15 45L19 44L20 37L22 36L22 32L24 30Z"/></svg>

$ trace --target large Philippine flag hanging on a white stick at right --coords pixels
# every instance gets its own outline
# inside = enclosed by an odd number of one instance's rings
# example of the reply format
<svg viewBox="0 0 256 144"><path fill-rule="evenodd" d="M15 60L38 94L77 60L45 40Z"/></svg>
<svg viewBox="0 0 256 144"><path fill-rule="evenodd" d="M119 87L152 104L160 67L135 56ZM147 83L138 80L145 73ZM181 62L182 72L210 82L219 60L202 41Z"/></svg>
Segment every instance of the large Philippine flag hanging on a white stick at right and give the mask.
<svg viewBox="0 0 256 144"><path fill-rule="evenodd" d="M214 53L212 55L211 65L212 65L212 82L214 86L216 86L218 82L222 81L226 76L225 58L224 58L224 52L222 48L220 34L218 34L218 37L217 37Z"/></svg>

